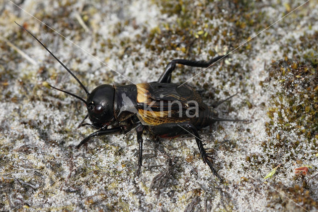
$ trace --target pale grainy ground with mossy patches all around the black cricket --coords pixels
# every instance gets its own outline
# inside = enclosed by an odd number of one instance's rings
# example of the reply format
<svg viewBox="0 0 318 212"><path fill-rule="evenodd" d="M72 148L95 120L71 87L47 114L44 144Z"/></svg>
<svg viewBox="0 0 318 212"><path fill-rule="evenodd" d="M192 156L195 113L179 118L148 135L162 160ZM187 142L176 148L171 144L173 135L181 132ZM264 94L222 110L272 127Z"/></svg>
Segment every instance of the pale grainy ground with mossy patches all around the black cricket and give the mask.
<svg viewBox="0 0 318 212"><path fill-rule="evenodd" d="M10 0L0 0L0 210L317 210L318 1L261 32L304 2L25 0L18 5L64 39ZM104 83L156 81L172 59L207 60L234 50L188 82L202 90L208 105L239 92L218 107L219 115L250 120L200 130L216 149L214 163L224 183L202 162L191 136L169 140L146 133L139 178L135 131L95 138L86 151L70 148L93 132L77 129L86 109L43 82L85 94L14 21L45 43L89 91ZM201 70L178 66L172 81L183 83ZM305 165L312 167L306 176L294 174Z"/></svg>

